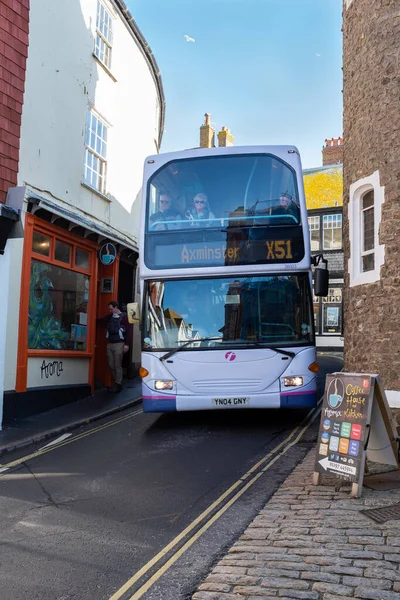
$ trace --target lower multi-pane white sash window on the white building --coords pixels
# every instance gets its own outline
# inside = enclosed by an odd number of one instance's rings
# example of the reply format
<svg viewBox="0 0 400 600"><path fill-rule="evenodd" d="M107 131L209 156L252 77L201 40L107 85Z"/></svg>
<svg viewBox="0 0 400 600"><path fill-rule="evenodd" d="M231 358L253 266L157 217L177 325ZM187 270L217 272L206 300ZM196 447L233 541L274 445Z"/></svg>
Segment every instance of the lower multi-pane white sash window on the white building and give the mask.
<svg viewBox="0 0 400 600"><path fill-rule="evenodd" d="M98 125L101 125L100 133ZM105 194L106 190L108 130L109 127L104 119L93 108L90 108L85 132L84 183L100 192L100 194ZM93 176L96 179L95 184L93 183Z"/></svg>

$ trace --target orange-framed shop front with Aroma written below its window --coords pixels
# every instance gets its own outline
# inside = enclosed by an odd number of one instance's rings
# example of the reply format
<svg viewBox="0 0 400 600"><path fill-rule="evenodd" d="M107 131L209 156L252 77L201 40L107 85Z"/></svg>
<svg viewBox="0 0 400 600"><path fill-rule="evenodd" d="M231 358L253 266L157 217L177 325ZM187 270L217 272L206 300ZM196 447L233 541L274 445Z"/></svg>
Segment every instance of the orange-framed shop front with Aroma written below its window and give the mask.
<svg viewBox="0 0 400 600"><path fill-rule="evenodd" d="M96 318L118 299L121 255L127 270L125 248L42 213L46 218L25 214L16 382L4 395L4 423L110 384L105 330ZM102 257L102 251L113 256ZM135 264L128 265L132 282Z"/></svg>

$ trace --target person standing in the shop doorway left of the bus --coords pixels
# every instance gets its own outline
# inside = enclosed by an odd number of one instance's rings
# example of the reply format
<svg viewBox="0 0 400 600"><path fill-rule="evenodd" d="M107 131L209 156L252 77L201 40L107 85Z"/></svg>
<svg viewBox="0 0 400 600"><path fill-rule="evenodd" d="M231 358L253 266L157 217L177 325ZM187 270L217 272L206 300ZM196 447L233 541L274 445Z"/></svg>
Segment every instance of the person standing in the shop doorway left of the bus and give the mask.
<svg viewBox="0 0 400 600"><path fill-rule="evenodd" d="M114 378L114 385L108 391L115 394L122 390L122 359L132 344L132 326L118 302L113 300L108 308L110 314L97 319L97 322L107 326L107 362Z"/></svg>

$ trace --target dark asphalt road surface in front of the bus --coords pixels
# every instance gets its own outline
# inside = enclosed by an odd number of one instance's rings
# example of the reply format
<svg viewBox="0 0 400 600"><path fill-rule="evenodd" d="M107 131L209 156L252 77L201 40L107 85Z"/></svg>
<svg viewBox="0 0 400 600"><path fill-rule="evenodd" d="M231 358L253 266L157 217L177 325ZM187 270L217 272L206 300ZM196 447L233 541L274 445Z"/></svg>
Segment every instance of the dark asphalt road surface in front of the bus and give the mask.
<svg viewBox="0 0 400 600"><path fill-rule="evenodd" d="M322 395L342 360L320 364ZM312 447L307 414L138 405L3 456L1 599L190 598Z"/></svg>

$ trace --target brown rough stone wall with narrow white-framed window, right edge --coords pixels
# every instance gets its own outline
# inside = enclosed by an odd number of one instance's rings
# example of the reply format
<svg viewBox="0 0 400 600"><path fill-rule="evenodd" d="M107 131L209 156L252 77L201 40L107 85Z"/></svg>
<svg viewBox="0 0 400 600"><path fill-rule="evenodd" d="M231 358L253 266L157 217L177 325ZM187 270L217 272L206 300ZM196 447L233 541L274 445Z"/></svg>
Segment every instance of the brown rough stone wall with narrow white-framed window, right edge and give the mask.
<svg viewBox="0 0 400 600"><path fill-rule="evenodd" d="M400 407L400 12L345 0L345 370L379 373Z"/></svg>

